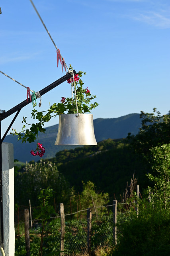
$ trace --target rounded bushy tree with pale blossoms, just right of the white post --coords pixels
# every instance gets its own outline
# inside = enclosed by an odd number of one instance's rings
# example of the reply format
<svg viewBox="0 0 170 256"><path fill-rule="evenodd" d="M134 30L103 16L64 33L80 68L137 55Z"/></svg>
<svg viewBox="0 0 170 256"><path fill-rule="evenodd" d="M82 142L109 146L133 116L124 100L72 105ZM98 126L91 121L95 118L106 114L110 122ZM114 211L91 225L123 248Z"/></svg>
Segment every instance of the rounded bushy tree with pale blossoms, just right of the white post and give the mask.
<svg viewBox="0 0 170 256"><path fill-rule="evenodd" d="M30 199L31 205L37 206L37 194L48 187L55 192L58 203L68 200L70 186L55 163L42 160L34 164L27 163L23 171L18 172L15 178L15 201L19 205L25 205L25 202ZM54 202L54 198L52 200L51 204Z"/></svg>

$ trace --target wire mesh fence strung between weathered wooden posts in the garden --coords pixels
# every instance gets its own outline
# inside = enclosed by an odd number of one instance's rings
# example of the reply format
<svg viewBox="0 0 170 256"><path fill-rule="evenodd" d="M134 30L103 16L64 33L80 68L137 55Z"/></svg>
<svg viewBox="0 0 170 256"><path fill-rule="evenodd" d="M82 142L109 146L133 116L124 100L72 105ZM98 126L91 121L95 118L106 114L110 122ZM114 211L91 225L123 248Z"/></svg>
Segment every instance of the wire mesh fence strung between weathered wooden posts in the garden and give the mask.
<svg viewBox="0 0 170 256"><path fill-rule="evenodd" d="M62 256L86 256L92 252L96 255L101 255L101 251L107 253L117 244L119 234L121 233L121 225L123 225L125 218L127 219L127 213L126 216L125 213L121 211L117 214L117 206L120 207L121 204L117 204L117 201L114 200L111 205L96 207L93 214L91 208L80 210L72 214L65 214L64 233L62 233L61 215L51 216L45 227L43 250L45 250L46 253L50 253L56 249L61 250L61 234L64 234L64 252L61 253ZM136 210L135 206L136 202L134 202L134 210ZM24 208L25 206L22 206L16 211L16 234L25 233ZM88 214L88 212L90 212L90 214ZM29 223L29 237L31 241L30 244L32 245L35 241L35 237L40 239L42 220L33 219L32 230L31 220Z"/></svg>

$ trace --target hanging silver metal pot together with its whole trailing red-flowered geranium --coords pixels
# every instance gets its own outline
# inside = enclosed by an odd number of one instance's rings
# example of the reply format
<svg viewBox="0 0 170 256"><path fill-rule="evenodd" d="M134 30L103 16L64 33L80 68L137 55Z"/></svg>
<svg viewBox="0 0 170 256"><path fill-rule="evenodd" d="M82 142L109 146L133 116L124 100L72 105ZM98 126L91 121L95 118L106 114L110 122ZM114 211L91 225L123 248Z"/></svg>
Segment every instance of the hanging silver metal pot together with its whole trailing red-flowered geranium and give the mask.
<svg viewBox="0 0 170 256"><path fill-rule="evenodd" d="M29 129L25 129L27 121L26 117L23 117L22 122L25 124L23 124L22 132L17 132L15 129L12 132L13 135L18 136L18 140L29 143L38 140L38 133L45 133L44 124L49 122L52 117L59 116L59 130L55 145L97 145L94 136L93 115L88 113L99 104L97 102L92 103L96 96L91 94L88 87L83 88L84 83L80 77L86 73L80 71L74 75L71 66L70 70L72 78L68 79L67 82L71 84L71 98L61 97L58 104L54 103L45 111L37 111L34 103L31 115L38 122L31 124ZM41 157L44 153L45 148L38 141L36 149L31 150L31 155Z"/></svg>

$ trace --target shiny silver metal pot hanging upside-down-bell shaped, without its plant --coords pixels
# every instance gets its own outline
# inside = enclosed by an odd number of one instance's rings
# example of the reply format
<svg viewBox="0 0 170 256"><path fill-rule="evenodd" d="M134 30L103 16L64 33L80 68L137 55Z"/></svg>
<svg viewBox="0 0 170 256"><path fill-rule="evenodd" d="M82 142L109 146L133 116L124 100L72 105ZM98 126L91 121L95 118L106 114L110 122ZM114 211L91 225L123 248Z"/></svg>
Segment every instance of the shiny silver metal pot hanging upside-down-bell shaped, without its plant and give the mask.
<svg viewBox="0 0 170 256"><path fill-rule="evenodd" d="M62 114L55 145L97 145L92 114Z"/></svg>

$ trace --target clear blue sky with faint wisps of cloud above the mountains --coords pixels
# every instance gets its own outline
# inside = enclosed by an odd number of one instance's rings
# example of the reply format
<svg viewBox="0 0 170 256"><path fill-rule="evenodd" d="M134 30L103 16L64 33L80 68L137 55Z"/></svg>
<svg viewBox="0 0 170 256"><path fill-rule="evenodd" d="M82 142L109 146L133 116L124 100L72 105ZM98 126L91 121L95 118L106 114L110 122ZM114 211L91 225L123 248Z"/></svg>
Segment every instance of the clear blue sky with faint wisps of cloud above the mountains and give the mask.
<svg viewBox="0 0 170 256"><path fill-rule="evenodd" d="M85 87L100 104L96 118L170 110L169 0L34 0L66 64L85 71ZM0 70L35 92L65 72L29 0L1 0ZM26 89L0 74L0 109L26 99ZM67 82L43 95L41 110L70 96ZM38 100L39 101L39 100ZM13 127L21 130L25 106ZM12 116L2 121L6 130ZM47 126L58 123L54 118Z"/></svg>

